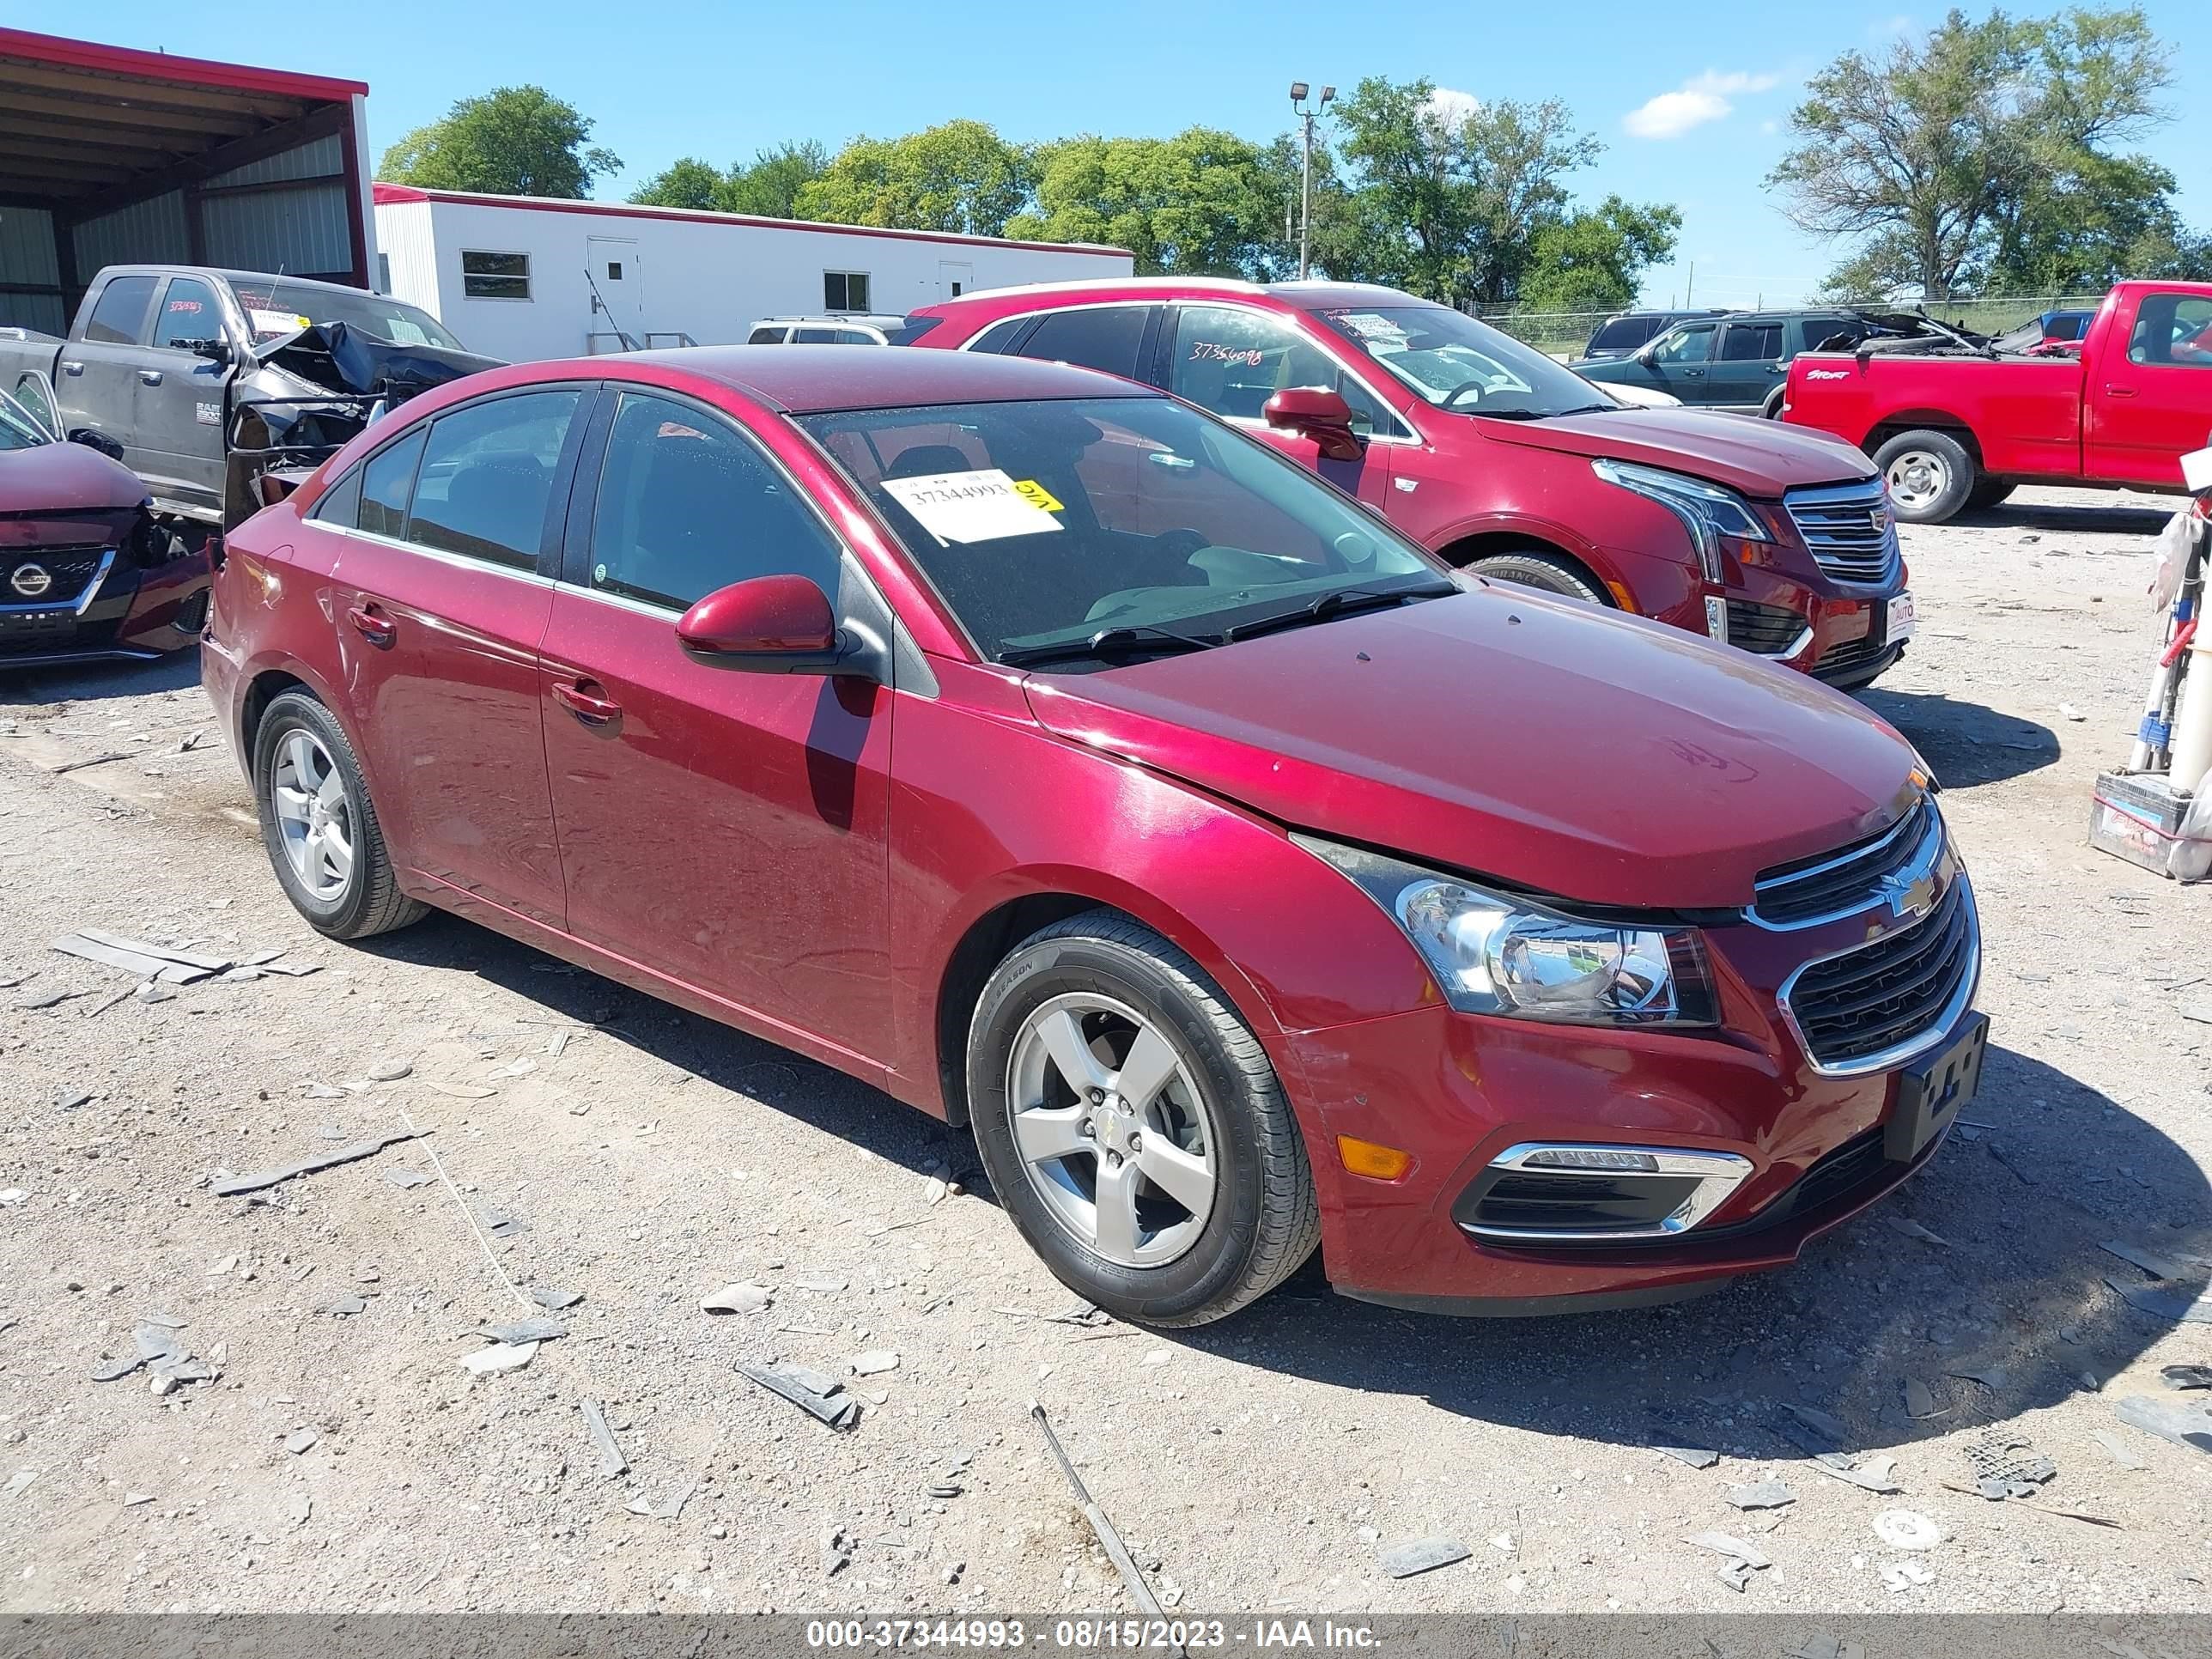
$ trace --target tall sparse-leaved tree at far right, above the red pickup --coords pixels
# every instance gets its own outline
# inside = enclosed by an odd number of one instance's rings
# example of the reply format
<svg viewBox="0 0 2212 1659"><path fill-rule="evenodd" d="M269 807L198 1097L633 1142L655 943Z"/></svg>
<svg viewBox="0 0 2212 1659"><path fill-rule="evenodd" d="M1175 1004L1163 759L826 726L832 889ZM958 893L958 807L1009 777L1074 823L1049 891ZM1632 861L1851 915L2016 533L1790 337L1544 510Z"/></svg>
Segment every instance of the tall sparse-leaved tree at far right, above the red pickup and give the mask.
<svg viewBox="0 0 2212 1659"><path fill-rule="evenodd" d="M1847 51L1807 82L1770 175L1790 217L1858 246L1832 292L1942 301L2126 274L2170 228L2172 175L2112 146L2166 119L2172 53L2137 7L1980 22Z"/></svg>

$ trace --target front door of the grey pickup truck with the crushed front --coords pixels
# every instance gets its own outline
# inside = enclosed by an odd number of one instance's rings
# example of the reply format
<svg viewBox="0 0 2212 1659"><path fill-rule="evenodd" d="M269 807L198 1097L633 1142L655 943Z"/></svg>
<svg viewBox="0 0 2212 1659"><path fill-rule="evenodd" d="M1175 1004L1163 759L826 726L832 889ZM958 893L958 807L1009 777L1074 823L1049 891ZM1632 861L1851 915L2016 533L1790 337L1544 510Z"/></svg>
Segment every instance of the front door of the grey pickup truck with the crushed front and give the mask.
<svg viewBox="0 0 2212 1659"><path fill-rule="evenodd" d="M170 276L137 363L139 471L157 498L221 511L223 387L241 356L221 294L199 276Z"/></svg>

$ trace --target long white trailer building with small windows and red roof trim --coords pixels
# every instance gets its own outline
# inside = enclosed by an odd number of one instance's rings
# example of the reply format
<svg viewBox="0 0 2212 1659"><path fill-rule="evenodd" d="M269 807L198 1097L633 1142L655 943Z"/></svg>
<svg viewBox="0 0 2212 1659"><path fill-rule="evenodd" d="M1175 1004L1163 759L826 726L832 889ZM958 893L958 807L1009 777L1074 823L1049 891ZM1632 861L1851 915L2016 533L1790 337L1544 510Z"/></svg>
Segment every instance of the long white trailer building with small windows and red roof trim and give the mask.
<svg viewBox="0 0 2212 1659"><path fill-rule="evenodd" d="M515 363L734 345L761 316L909 312L978 288L1128 276L1126 248L376 186L380 288Z"/></svg>

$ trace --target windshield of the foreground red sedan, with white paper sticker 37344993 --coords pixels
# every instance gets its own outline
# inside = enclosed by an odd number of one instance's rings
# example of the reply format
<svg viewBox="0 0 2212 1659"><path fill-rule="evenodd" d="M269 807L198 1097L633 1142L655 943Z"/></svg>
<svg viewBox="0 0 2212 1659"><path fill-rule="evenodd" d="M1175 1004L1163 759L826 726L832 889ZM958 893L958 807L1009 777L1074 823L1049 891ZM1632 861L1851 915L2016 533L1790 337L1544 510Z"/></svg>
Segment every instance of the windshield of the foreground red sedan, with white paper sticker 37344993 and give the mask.
<svg viewBox="0 0 2212 1659"><path fill-rule="evenodd" d="M799 425L993 661L1097 668L1221 644L1338 593L1305 619L1458 591L1301 467L1166 398L860 409Z"/></svg>

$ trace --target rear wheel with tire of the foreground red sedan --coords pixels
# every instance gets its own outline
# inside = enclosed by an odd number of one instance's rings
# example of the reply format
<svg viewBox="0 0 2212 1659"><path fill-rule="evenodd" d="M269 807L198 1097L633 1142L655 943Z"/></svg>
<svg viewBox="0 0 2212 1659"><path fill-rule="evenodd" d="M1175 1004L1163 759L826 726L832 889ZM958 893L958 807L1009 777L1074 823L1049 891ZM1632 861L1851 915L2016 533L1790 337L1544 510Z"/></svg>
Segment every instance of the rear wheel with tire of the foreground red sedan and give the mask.
<svg viewBox="0 0 2212 1659"><path fill-rule="evenodd" d="M276 880L316 933L369 938L422 918L345 728L307 692L283 692L254 728L254 805Z"/></svg>

